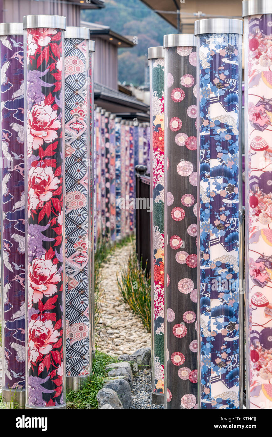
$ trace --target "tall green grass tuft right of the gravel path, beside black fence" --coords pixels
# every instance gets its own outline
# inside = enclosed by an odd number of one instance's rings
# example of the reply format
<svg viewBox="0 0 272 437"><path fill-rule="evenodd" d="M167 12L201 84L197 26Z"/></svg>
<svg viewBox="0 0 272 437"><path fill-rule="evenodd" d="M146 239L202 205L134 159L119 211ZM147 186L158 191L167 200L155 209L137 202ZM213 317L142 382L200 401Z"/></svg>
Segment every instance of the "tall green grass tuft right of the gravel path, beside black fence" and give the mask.
<svg viewBox="0 0 272 437"><path fill-rule="evenodd" d="M146 277L147 276L147 277ZM151 331L151 280L146 267L139 263L135 246L129 255L128 264L117 277L119 293L129 308L139 316L147 331Z"/></svg>

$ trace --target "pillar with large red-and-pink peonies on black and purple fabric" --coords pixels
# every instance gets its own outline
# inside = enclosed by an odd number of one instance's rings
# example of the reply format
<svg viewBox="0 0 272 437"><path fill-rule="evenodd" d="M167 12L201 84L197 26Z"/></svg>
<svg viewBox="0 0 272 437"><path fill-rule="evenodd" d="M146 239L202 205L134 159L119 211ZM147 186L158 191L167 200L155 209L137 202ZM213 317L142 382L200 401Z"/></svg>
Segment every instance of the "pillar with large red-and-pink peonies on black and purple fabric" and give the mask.
<svg viewBox="0 0 272 437"><path fill-rule="evenodd" d="M23 18L28 364L26 408L65 408L64 30Z"/></svg>

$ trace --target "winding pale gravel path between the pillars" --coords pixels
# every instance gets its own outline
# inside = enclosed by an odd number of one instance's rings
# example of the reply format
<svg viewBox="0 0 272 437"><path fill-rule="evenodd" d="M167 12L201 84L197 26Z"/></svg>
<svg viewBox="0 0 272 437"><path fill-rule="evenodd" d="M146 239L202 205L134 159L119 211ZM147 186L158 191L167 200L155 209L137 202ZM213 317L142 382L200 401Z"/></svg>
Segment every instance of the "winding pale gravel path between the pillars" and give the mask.
<svg viewBox="0 0 272 437"><path fill-rule="evenodd" d="M101 301L101 319L96 327L97 348L112 356L132 354L140 347L151 346L151 336L129 306L122 302L116 274L126 266L132 243L117 248L102 267L104 295Z"/></svg>

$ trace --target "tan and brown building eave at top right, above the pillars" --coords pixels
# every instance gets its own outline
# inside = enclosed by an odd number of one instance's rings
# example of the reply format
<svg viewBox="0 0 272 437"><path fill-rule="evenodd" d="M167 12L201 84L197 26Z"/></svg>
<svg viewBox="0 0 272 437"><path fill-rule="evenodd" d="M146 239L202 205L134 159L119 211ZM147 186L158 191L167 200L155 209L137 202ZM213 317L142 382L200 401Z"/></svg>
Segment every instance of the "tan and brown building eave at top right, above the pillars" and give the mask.
<svg viewBox="0 0 272 437"><path fill-rule="evenodd" d="M142 0L151 9L156 10L157 14L163 17L168 23L177 28L177 10L180 9L182 28L181 33L193 33L194 21L201 18L241 18L241 0L228 0L225 2L218 0L188 0L180 3L180 0Z"/></svg>

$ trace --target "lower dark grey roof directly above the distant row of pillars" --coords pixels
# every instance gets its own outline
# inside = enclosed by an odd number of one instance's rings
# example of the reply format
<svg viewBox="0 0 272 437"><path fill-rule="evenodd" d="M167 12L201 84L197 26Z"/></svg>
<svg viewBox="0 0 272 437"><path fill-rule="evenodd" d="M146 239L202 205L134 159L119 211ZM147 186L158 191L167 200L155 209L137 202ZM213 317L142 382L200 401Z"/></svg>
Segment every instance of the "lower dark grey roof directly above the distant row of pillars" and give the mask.
<svg viewBox="0 0 272 437"><path fill-rule="evenodd" d="M97 82L94 83L94 100L97 106L114 114L138 113L149 120L149 105Z"/></svg>

